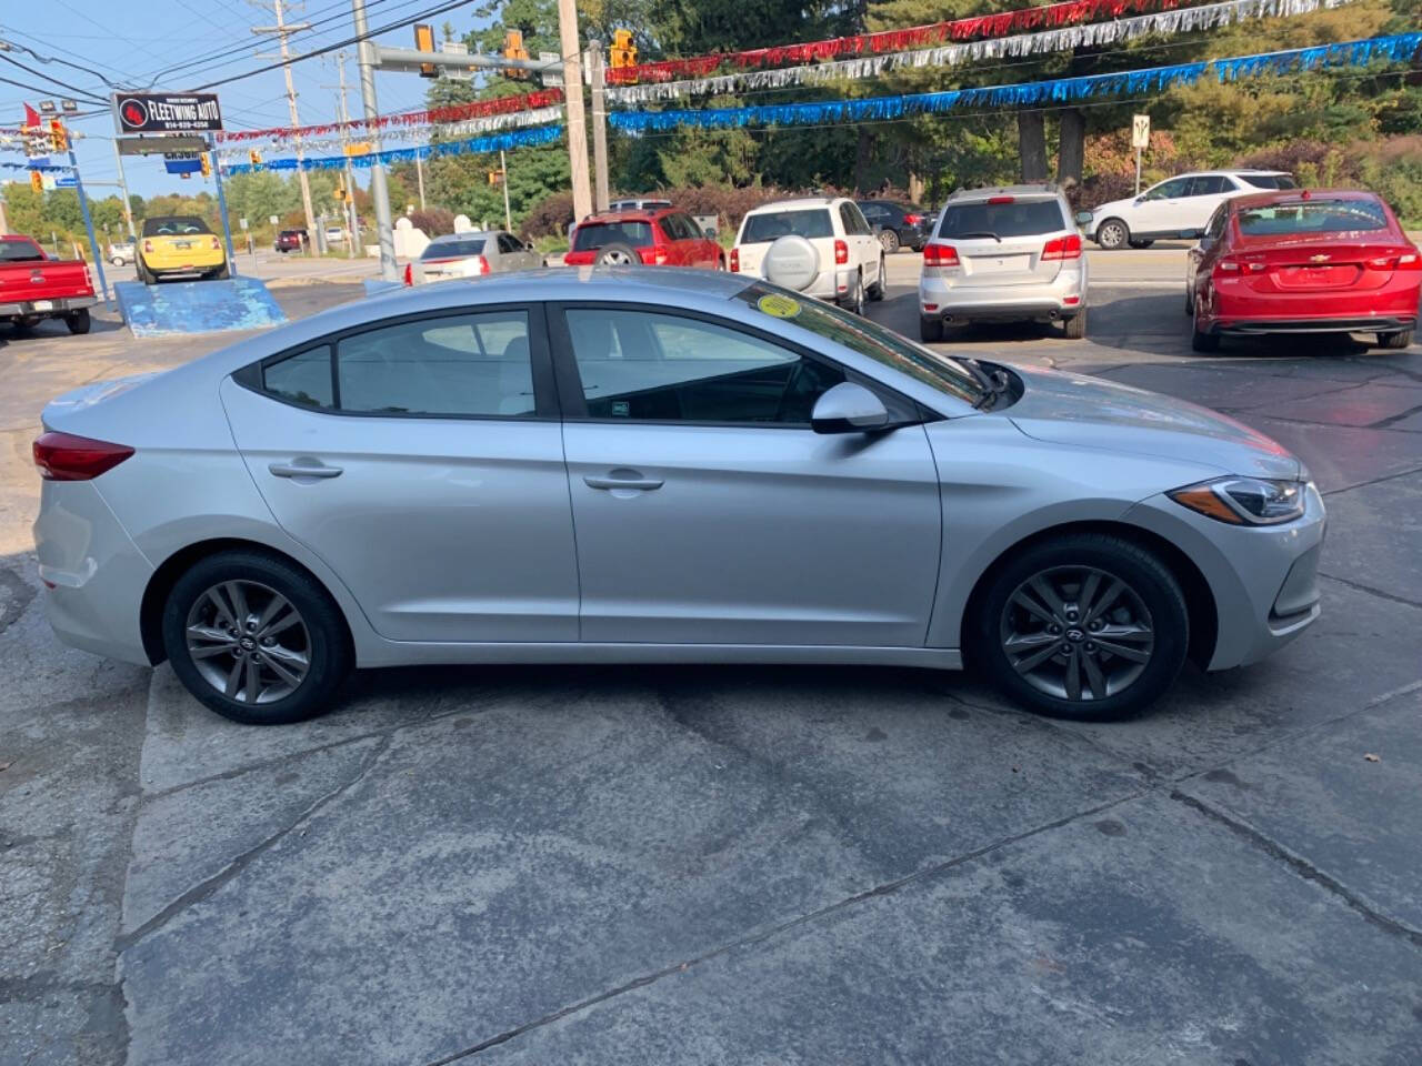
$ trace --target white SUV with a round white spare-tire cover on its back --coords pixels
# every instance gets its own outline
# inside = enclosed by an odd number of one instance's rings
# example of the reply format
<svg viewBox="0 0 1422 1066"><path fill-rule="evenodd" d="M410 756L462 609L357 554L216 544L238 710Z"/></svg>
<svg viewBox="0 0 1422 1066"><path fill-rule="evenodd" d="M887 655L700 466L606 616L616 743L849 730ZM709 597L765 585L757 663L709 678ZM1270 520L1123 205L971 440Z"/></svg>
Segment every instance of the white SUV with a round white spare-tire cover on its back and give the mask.
<svg viewBox="0 0 1422 1066"><path fill-rule="evenodd" d="M741 219L731 270L764 277L856 314L884 297L884 250L843 196L765 203Z"/></svg>

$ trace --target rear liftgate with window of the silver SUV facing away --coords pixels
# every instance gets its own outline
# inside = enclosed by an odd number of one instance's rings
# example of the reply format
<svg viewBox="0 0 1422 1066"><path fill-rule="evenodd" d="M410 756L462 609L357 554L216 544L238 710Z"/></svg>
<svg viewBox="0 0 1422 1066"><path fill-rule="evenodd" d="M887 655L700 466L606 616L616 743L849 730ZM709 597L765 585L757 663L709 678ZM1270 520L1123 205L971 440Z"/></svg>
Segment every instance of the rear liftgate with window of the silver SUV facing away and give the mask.
<svg viewBox="0 0 1422 1066"><path fill-rule="evenodd" d="M1062 260L1047 242L1065 229L1055 196L990 196L948 205L936 239L958 253L956 289L1003 289L1051 284Z"/></svg>

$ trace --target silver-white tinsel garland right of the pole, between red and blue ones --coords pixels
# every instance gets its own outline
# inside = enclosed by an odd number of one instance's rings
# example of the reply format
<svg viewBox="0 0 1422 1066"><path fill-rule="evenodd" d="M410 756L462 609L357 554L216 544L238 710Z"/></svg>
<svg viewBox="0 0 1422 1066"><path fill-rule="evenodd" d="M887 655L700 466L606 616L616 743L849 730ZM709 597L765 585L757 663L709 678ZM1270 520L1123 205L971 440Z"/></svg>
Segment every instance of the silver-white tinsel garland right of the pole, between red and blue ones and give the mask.
<svg viewBox="0 0 1422 1066"><path fill-rule="evenodd" d="M697 81L664 81L646 85L609 85L607 99L613 104L647 104L680 99L683 97L727 95L748 90L813 85L826 81L859 81L890 70L920 67L956 67L984 60L1044 55L1054 51L1089 48L1132 41L1146 34L1192 33L1214 30L1251 18L1287 18L1330 10L1352 0L1226 0L1204 7L1182 7L1156 11L1135 18L1088 26L1068 26L1061 30L994 37L966 44L946 44L941 48L866 55L857 60L815 63L805 67L722 74Z"/></svg>

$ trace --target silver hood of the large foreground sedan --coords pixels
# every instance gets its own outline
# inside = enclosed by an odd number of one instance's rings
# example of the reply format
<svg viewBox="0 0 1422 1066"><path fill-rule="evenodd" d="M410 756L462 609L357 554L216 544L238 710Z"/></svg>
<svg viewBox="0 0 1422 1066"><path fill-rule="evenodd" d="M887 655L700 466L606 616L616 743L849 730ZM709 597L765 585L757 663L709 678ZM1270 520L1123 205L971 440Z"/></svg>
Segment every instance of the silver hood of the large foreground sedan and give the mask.
<svg viewBox="0 0 1422 1066"><path fill-rule="evenodd" d="M1303 473L1303 463L1283 445L1209 408L1081 374L1012 370L1024 392L1003 414L1038 441L1197 461L1220 473Z"/></svg>

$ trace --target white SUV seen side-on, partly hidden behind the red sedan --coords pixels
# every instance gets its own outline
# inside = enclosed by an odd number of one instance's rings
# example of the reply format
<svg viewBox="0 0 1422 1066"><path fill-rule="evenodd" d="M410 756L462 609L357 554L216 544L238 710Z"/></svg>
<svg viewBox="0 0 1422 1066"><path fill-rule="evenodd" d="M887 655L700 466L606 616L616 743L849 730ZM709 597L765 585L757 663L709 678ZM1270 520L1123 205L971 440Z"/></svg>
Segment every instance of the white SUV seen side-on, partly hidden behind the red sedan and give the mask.
<svg viewBox="0 0 1422 1066"><path fill-rule="evenodd" d="M1102 203L1085 223L1086 236L1105 249L1150 247L1155 240L1194 237L1230 196L1293 189L1283 171L1202 171L1166 178L1139 196Z"/></svg>

